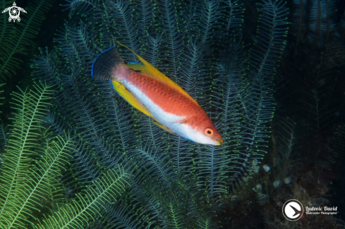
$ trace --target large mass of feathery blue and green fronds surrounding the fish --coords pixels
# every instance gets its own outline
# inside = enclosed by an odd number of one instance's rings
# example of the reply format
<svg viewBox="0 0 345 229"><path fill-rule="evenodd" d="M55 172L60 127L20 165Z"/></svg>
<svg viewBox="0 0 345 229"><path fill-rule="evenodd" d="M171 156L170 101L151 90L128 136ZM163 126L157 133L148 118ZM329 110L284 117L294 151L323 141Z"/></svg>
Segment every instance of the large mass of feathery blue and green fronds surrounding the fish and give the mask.
<svg viewBox="0 0 345 229"><path fill-rule="evenodd" d="M68 1L71 20L57 32L56 48L41 49L32 65L41 82L16 95L1 226L221 226L215 217L222 204L267 152L272 80L288 30L284 1L251 6L258 23L255 43L246 44L242 1ZM110 47L124 61L138 62L113 40L198 101L224 143L171 135L119 97L110 82L91 78L93 61ZM32 143L37 132L41 144Z"/></svg>

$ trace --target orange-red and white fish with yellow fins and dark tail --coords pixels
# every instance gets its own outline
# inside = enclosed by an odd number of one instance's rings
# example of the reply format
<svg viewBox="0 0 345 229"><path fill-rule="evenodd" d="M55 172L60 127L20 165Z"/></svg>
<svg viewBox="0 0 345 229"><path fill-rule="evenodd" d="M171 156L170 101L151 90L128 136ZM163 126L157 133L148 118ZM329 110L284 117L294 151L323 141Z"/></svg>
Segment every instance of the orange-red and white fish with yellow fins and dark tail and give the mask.
<svg viewBox="0 0 345 229"><path fill-rule="evenodd" d="M114 48L107 49L92 64L91 75L111 80L114 89L123 99L154 118L155 124L160 128L193 142L220 145L222 137L200 105L150 63L137 54L135 56L143 64L126 65L118 51Z"/></svg>

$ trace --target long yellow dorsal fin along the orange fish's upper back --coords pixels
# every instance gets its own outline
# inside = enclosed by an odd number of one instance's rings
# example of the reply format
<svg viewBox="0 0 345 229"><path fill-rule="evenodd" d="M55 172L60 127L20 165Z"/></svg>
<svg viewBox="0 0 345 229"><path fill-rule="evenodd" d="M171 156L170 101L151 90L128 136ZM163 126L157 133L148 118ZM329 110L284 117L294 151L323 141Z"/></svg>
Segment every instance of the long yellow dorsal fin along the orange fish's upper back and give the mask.
<svg viewBox="0 0 345 229"><path fill-rule="evenodd" d="M141 73L146 74L146 75L150 75L153 78L157 78L158 80L161 80L162 82L167 83L167 85L174 87L175 89L177 89L179 92L181 92L182 94L184 94L186 97L190 97L190 95L185 92L180 86L176 85L176 83L172 80L170 80L169 78L167 78L167 76L165 76L163 73L161 73L159 70L157 70L157 68L155 68L154 66L152 66L150 63L148 63L147 61L144 60L144 58L142 58L141 56L139 56L138 54L135 54L135 52L126 47L126 45L121 44L120 42L116 42L117 44L121 45L122 47L125 47L126 49L130 50L131 52L133 52L133 54L135 56L137 56L139 58L139 60L141 61L141 63L143 63L143 66L139 66L136 63L130 64L135 68L133 68L134 70L140 70ZM135 66L134 66L135 65ZM128 65L127 65L128 66ZM131 68L130 66L128 66L129 68ZM193 101L195 101L192 97L190 97L190 99L192 99ZM195 101L196 103L196 101Z"/></svg>

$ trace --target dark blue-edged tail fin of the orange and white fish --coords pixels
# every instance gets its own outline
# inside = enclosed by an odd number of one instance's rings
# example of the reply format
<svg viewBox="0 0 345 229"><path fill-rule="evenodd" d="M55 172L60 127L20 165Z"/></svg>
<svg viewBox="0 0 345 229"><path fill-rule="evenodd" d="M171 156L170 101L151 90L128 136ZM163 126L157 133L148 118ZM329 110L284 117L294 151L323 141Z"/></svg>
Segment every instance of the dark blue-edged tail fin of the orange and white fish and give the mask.
<svg viewBox="0 0 345 229"><path fill-rule="evenodd" d="M112 72L116 70L116 66L122 63L119 52L114 47L107 49L99 54L92 63L91 76L102 80L114 80Z"/></svg>

